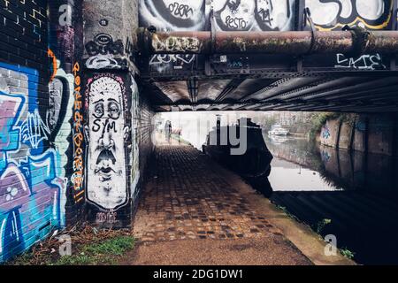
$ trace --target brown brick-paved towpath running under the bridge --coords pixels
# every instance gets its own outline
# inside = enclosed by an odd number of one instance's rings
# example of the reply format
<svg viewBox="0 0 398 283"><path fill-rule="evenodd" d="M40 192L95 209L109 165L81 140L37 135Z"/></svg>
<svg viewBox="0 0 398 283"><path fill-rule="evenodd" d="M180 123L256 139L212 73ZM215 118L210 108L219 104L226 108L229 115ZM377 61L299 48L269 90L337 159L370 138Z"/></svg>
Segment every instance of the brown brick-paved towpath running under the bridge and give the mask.
<svg viewBox="0 0 398 283"><path fill-rule="evenodd" d="M311 264L241 178L191 146L156 149L122 264Z"/></svg>

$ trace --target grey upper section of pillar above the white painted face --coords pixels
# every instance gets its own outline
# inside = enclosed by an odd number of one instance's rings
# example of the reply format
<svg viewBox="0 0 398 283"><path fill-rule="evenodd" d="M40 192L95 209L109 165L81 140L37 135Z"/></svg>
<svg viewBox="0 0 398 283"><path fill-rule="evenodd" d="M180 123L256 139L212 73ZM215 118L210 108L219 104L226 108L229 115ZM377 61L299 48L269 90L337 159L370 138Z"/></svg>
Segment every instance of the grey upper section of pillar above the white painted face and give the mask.
<svg viewBox="0 0 398 283"><path fill-rule="evenodd" d="M84 0L84 65L91 70L133 70L138 0Z"/></svg>

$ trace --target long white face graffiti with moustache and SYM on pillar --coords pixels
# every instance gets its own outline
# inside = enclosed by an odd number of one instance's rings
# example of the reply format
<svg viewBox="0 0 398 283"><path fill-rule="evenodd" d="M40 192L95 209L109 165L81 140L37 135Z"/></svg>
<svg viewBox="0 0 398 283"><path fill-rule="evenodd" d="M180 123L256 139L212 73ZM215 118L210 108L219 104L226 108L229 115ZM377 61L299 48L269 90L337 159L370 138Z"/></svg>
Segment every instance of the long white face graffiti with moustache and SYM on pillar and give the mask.
<svg viewBox="0 0 398 283"><path fill-rule="evenodd" d="M111 210L126 203L126 150L123 82L103 76L89 87L88 201Z"/></svg>

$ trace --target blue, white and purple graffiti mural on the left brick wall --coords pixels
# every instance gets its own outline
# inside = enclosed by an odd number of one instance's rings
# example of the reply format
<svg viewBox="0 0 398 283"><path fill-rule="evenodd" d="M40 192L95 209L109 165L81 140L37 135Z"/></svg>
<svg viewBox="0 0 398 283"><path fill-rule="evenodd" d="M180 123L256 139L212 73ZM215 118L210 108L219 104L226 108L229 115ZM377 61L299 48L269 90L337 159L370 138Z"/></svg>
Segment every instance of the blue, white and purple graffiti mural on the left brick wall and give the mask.
<svg viewBox="0 0 398 283"><path fill-rule="evenodd" d="M42 119L37 88L35 70L0 63L0 261L65 223L63 161L50 142L59 129L48 123L62 118L52 109Z"/></svg>

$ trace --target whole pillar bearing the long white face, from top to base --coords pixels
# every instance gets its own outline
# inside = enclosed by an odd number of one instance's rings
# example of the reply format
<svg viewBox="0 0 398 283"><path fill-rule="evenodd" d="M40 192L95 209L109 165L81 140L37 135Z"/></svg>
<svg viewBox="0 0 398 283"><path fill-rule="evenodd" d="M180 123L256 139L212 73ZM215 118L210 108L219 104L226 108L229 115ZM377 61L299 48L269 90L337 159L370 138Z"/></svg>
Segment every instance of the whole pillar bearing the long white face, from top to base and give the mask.
<svg viewBox="0 0 398 283"><path fill-rule="evenodd" d="M127 227L142 172L133 50L138 1L85 0L83 8L87 219Z"/></svg>

